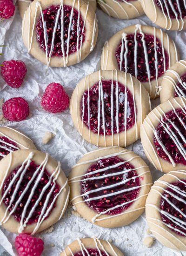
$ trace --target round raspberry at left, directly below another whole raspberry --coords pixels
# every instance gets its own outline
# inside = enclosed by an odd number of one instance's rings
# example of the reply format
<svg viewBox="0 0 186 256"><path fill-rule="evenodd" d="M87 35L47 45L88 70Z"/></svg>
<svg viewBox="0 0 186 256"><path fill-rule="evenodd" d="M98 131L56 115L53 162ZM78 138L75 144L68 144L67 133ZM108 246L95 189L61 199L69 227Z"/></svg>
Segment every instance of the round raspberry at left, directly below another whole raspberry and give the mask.
<svg viewBox="0 0 186 256"><path fill-rule="evenodd" d="M22 121L29 115L29 106L23 98L15 97L5 101L2 112L9 121Z"/></svg>

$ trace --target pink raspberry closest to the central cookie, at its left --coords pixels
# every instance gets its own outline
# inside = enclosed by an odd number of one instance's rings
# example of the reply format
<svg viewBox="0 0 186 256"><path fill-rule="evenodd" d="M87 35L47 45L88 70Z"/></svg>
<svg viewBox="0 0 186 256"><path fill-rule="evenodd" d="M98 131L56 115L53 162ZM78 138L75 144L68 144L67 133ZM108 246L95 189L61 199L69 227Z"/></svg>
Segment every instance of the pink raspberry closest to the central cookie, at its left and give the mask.
<svg viewBox="0 0 186 256"><path fill-rule="evenodd" d="M49 112L63 112L69 106L69 97L65 89L58 83L51 83L46 87L41 98L41 106Z"/></svg>

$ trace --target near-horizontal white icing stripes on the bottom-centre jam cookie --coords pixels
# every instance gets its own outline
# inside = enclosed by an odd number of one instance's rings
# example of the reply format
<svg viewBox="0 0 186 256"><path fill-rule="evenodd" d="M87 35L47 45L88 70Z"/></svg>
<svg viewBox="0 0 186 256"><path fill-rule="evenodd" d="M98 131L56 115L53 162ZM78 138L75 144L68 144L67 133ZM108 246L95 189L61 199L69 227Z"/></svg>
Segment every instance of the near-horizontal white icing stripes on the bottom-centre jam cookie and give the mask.
<svg viewBox="0 0 186 256"><path fill-rule="evenodd" d="M81 163L79 163L76 166L84 165L84 164L87 164L87 163L90 164L92 162L95 163L95 162L98 162L100 159L105 159L105 158L109 158L109 157L112 157L112 156L120 156L120 155L123 155L123 154L130 154L130 152L128 152L128 151L126 152L126 150L123 150L123 151L120 151L120 152L114 153L114 154L110 154L110 155L106 155L106 156L103 156L103 157L98 157L97 159L93 159L93 160L90 160L90 161L81 162ZM123 171L119 171L117 173L114 172L114 173L108 174L108 175L106 175L106 174L103 175L102 174L106 170L109 170L111 168L117 168L117 167L125 164L126 162L131 162L135 158L139 158L139 156L134 156L134 157L131 157L130 159L128 159L126 161L119 162L117 164L114 164L114 165L111 165L111 166L107 166L105 168L101 168L101 169L98 169L98 170L95 170L95 171L91 171L91 172L85 173L83 175L75 176L75 177L69 179L69 184L70 183L74 183L74 182L83 182L83 181L87 181L87 180L98 180L98 179L103 179L104 180L106 177L111 177L111 176L115 176L115 175L122 175L122 174L126 174L126 173L128 173L130 171L137 171L137 170L142 169L142 168L148 168L148 166L145 165L145 166L140 166L138 168L133 168L133 169L132 168L130 168L130 169L126 169L125 168L125 170L123 170ZM114 196L114 195L119 195L121 193L125 193L125 192L132 191L132 190L135 190L135 189L140 189L140 188L148 186L148 185L152 185L152 184L147 183L147 184L143 184L143 185L140 185L140 186L135 186L135 187L132 187L132 188L129 188L129 189L121 189L120 191L113 192L113 193L110 193L110 194L104 194L104 191L107 190L107 189L112 189L112 188L118 187L120 185L126 184L127 182L130 182L131 180L135 180L137 178L140 178L141 176L146 175L149 172L150 171L144 171L144 172L142 172L139 175L133 176L132 178L128 178L128 179L123 180L121 182L117 182L117 183L114 183L114 184L111 184L111 185L108 185L108 186L100 187L98 189L92 189L92 190L87 191L86 193L84 193L82 195L77 195L77 196L73 197L72 200L71 200L71 203L73 205L76 205L76 204L82 203L82 202L90 202L90 201L93 201L93 200L99 200L101 198L106 198L106 197L111 197L111 196ZM97 173L100 173L100 175L96 176ZM95 175L95 177L89 177L89 175ZM79 179L79 178L86 177L86 176L88 176L88 177L87 178L83 178L83 179ZM90 195L92 193L96 193L96 192L102 191L102 190L103 190L102 195L95 196L95 197L92 197L92 198L88 198L86 200L81 200L83 196ZM101 221L101 220L104 220L104 219L113 218L113 217L117 217L117 216L123 215L125 213L128 213L128 212L130 212L130 210L129 211L126 210L126 211L122 212L121 214L115 214L113 216L108 216L108 217L100 218L100 216L106 215L109 211L117 209L117 208L120 208L120 207L122 207L122 206L124 206L124 205L126 205L128 203L135 202L135 201L139 200L140 198L142 198L144 196L147 196L147 194L140 195L137 198L135 198L135 199L133 199L133 200L131 200L129 202L124 202L122 204L118 204L118 205L116 205L114 207L111 207L111 208L109 208L109 209L107 209L107 210L105 210L103 212L100 212L99 214L96 214L93 217L92 222L94 223L96 221ZM74 202L74 200L76 200L78 198L80 198L80 200ZM142 209L142 208L139 208L139 209ZM138 210L138 209L134 209L134 211L136 211L136 210Z"/></svg>

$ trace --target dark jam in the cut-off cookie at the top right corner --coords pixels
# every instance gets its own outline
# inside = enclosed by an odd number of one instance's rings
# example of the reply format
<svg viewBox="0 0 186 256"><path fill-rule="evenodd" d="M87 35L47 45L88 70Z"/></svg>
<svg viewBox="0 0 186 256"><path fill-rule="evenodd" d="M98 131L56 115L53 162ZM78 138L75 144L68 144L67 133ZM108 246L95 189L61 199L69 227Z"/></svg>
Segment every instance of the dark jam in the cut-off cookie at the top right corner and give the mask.
<svg viewBox="0 0 186 256"><path fill-rule="evenodd" d="M186 18L186 8L184 6L184 1L185 0L165 0L165 2L166 2L166 5L165 5L164 0L155 0L156 5L159 7L159 9L162 10L162 7L163 7L164 13L166 15L169 15L172 19L176 18L175 13L177 13L179 19L181 17ZM161 2L161 4L160 4L160 2ZM172 3L172 6L171 6L170 2ZM179 5L178 5L178 2L179 2ZM162 5L162 7L161 7L161 5ZM179 7L180 7L180 9L179 9ZM168 11L167 11L167 9L168 9ZM181 15L180 15L180 11L181 11Z"/></svg>

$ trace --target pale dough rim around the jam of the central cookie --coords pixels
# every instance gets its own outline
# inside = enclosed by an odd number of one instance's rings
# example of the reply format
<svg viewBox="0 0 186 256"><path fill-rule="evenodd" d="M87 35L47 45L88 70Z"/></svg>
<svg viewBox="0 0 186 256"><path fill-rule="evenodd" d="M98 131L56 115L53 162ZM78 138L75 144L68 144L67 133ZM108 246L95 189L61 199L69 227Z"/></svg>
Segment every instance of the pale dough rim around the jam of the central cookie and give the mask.
<svg viewBox="0 0 186 256"><path fill-rule="evenodd" d="M127 129L126 131L113 134L106 135L106 140L104 135L99 135L93 133L92 130L89 131L89 128L83 124L82 126L82 118L81 118L81 98L87 88L91 88L95 83L97 83L101 77L101 80L112 80L116 81L118 77L118 82L123 84L124 86L127 84L127 89L133 95L133 99L135 101L135 106L137 109L136 114L136 122L133 127ZM89 84L89 87L88 87ZM134 141L137 141L140 138L140 126L145 119L146 115L150 112L150 98L146 89L143 87L137 79L135 79L131 74L126 74L123 71L112 71L112 70L100 70L94 72L85 78L83 78L76 86L73 91L71 101L70 101L70 113L73 119L73 123L80 135L88 142L100 146L124 146L132 144Z"/></svg>

